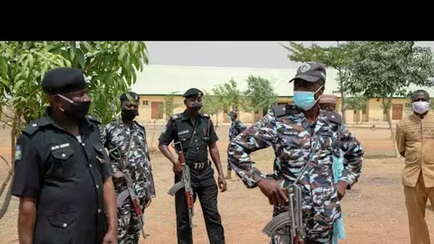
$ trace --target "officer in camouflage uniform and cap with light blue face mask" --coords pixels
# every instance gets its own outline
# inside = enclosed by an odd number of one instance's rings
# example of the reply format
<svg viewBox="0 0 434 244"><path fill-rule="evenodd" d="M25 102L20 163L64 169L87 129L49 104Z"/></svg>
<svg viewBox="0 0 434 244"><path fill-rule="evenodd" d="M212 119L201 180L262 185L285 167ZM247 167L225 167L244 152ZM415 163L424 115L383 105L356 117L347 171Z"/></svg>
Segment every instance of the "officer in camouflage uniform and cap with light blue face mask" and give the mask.
<svg viewBox="0 0 434 244"><path fill-rule="evenodd" d="M261 121L234 138L228 147L229 162L247 188L261 188L274 205L273 216L288 210L282 188L301 174L298 184L302 187L306 243L331 243L333 222L340 218L340 199L360 177L363 148L337 112L318 108L325 85L322 64L304 63L291 81L295 106L273 106ZM268 146L273 146L277 156L274 179L266 178L250 157ZM332 156L338 156L339 148L344 153L344 171L333 184ZM288 233L289 227L278 230L271 243L291 243Z"/></svg>

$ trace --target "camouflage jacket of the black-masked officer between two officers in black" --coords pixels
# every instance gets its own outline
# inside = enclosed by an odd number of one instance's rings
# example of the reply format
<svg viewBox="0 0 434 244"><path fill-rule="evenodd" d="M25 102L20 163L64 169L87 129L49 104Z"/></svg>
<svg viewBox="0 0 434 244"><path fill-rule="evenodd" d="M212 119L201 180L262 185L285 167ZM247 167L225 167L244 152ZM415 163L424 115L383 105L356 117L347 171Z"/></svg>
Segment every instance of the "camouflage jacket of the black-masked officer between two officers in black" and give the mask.
<svg viewBox="0 0 434 244"><path fill-rule="evenodd" d="M134 133L131 150L128 151L128 144L131 141L131 133ZM155 185L152 176L151 158L146 142L146 128L136 121L130 128L124 126L119 118L106 125L102 133L102 143L116 158L126 158L126 171L130 173L136 194L139 198L154 198ZM118 162L113 162L113 172L118 171ZM115 183L116 192L126 189L126 184Z"/></svg>

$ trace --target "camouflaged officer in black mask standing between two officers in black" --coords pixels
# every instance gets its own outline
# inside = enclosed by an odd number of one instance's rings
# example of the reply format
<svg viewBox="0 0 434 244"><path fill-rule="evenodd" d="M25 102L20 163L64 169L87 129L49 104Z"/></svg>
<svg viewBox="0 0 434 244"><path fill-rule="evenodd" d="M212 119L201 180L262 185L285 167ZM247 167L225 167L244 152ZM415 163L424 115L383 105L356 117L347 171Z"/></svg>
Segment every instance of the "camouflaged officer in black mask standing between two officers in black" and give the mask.
<svg viewBox="0 0 434 244"><path fill-rule="evenodd" d="M126 170L131 176L134 190L144 210L151 203L151 198L155 197L155 186L146 143L146 129L134 120L138 116L139 96L133 92L128 95L129 98L126 94L121 95L121 118L106 125L103 131L103 143L112 158L126 158L124 161ZM133 144L126 155L132 134L134 134ZM113 172L116 194L119 195L127 190L127 187L116 161L113 161ZM134 213L131 199L126 198L121 208L118 208L118 244L137 244L140 231L141 226Z"/></svg>

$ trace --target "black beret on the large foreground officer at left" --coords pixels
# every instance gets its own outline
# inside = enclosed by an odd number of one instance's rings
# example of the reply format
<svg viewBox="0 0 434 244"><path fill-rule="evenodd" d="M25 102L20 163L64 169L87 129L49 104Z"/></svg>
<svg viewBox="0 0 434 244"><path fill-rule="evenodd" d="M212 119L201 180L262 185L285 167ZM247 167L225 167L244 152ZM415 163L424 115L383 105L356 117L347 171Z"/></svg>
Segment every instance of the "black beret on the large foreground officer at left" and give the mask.
<svg viewBox="0 0 434 244"><path fill-rule="evenodd" d="M88 85L86 73L79 68L54 68L42 79L42 89L48 94L79 91Z"/></svg>

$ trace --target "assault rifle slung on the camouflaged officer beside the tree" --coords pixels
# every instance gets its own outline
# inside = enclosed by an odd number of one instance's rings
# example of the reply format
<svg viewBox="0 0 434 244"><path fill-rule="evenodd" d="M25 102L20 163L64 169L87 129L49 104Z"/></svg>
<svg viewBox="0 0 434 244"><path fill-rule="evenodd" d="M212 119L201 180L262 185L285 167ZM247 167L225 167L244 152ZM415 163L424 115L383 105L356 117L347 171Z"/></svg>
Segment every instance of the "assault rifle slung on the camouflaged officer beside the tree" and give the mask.
<svg viewBox="0 0 434 244"><path fill-rule="evenodd" d="M131 141L128 146L128 150L126 151L125 157L127 157L128 153L131 151L131 143L133 142L133 137L134 134L131 133ZM119 151L119 149L118 148L116 149L119 153L119 156L121 156L121 152ZM136 192L134 190L133 180L131 179L131 176L128 173L128 171L126 171L125 157L116 158L116 156L114 156L113 153L111 153L110 151L109 151L109 156L118 163L119 170L121 170L121 172L123 173L123 178L126 181L127 189L123 190L123 192L118 195L118 199L117 199L118 208L122 208L122 205L125 202L126 198L128 198L128 196L131 198L131 203L133 203L134 213L136 213L138 218L138 224L141 226L141 235L143 235L143 238L146 238L145 225L143 224L143 217L144 217L143 211L141 210L140 200L138 200Z"/></svg>

